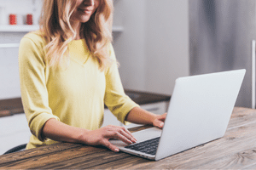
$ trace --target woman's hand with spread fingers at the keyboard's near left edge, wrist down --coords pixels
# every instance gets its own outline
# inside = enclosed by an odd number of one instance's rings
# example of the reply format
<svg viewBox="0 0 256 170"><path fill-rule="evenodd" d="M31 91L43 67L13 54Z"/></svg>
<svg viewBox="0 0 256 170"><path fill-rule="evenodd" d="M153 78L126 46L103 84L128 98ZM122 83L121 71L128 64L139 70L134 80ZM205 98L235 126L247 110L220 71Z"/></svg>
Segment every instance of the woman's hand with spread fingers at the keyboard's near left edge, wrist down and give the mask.
<svg viewBox="0 0 256 170"><path fill-rule="evenodd" d="M115 152L119 151L119 148L111 144L108 139L119 139L125 144L133 144L137 141L125 127L113 125L86 132L84 135L85 144L103 145Z"/></svg>

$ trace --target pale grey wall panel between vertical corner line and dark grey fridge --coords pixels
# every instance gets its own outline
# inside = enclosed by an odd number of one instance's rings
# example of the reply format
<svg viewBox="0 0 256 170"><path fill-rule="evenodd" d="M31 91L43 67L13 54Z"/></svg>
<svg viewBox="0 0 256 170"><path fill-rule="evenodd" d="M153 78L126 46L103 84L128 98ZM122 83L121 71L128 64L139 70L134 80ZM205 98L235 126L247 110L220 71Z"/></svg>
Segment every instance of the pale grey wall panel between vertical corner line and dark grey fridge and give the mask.
<svg viewBox="0 0 256 170"><path fill-rule="evenodd" d="M188 0L148 0L145 89L172 94L177 77L189 76Z"/></svg>

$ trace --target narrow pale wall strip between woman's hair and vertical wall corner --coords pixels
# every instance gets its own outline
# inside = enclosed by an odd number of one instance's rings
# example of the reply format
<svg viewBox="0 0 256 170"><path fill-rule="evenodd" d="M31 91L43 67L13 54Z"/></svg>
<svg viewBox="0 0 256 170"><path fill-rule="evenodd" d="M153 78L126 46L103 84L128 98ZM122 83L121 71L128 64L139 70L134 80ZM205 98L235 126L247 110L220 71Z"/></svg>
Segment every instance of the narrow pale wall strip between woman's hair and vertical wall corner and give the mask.
<svg viewBox="0 0 256 170"><path fill-rule="evenodd" d="M145 90L146 71L146 2L148 0L119 0L118 16L124 31L114 35L113 48L125 88ZM117 10L117 9L116 9ZM115 18L114 18L115 20Z"/></svg>

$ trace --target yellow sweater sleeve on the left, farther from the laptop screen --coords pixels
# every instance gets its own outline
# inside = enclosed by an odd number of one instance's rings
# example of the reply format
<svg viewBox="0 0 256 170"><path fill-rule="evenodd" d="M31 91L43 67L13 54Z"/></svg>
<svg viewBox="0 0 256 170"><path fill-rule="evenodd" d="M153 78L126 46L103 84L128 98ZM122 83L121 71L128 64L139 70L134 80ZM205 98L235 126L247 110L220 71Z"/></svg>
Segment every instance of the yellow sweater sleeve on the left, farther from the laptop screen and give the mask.
<svg viewBox="0 0 256 170"><path fill-rule="evenodd" d="M59 120L49 108L42 38L32 35L20 41L19 70L21 99L30 130L44 141L42 129L50 118Z"/></svg>

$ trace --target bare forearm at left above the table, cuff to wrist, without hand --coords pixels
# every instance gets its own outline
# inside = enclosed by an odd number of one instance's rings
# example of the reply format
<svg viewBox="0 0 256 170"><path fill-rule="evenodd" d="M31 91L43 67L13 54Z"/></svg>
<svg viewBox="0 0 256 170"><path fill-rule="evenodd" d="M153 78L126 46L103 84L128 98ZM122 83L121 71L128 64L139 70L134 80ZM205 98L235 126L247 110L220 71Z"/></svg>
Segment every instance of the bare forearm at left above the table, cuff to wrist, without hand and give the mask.
<svg viewBox="0 0 256 170"><path fill-rule="evenodd" d="M43 127L45 138L61 142L86 143L84 134L87 132L89 131L86 129L72 127L55 119L49 119Z"/></svg>

